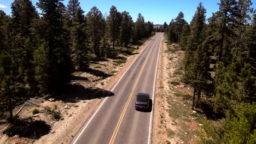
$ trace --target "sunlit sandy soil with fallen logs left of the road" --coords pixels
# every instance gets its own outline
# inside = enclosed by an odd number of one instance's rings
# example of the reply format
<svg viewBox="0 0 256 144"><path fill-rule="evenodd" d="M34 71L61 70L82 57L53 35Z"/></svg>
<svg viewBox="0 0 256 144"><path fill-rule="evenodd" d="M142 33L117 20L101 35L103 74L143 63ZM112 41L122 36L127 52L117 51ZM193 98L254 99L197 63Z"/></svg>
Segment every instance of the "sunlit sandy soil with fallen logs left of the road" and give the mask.
<svg viewBox="0 0 256 144"><path fill-rule="evenodd" d="M94 112L98 104L101 103L101 100L107 95L104 92L109 92L114 84L120 79L121 75L125 70L130 66L132 61L138 56L144 47L148 44L149 40L146 41L139 49L135 50L133 53L137 53L131 56L123 56L127 58L125 64L114 64L113 59L107 59L107 61L100 61L97 63L90 64L90 68L94 71L101 71L105 77L97 74L91 73L78 73L77 76L84 77L84 81L73 81L73 85L82 86L85 89L80 91L79 88L75 89L75 92L72 95L72 100L62 99L65 95L60 95L60 99L54 101L44 100L43 98L33 98L31 101L38 103L47 107L56 107L58 111L61 112L61 120L55 121L49 113L45 112L46 110L43 107L35 106L30 103L27 103L26 106L19 113L20 117L31 116L34 109L38 109L40 113L39 117L33 118L34 120L42 120L47 124L51 125L51 130L49 134L46 134L38 140L26 139L24 137L19 137L15 135L13 137L8 137L5 134L2 134L2 131L7 128L7 125L2 125L0 130L0 143L69 143L72 138L77 134L80 127L86 122L88 117ZM116 72L114 72L116 71ZM97 89L97 91L95 90ZM99 92L100 91L100 92ZM102 92L104 91L104 92ZM98 97L98 95L100 97ZM96 95L96 97L95 97ZM19 110L21 106L17 107L14 110L14 113Z"/></svg>

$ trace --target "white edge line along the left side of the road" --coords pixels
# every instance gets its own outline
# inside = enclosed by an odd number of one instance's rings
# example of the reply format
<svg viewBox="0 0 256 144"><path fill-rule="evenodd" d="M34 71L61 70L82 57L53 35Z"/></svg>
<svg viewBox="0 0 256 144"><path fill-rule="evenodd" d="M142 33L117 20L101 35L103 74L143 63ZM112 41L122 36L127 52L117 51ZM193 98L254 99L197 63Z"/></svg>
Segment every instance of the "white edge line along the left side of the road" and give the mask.
<svg viewBox="0 0 256 144"><path fill-rule="evenodd" d="M156 37L156 35L155 35ZM151 42L152 40L150 40L148 42L148 44ZM139 53L139 55L141 55L141 53L146 49L146 47L148 46L148 44L144 47L144 49ZM120 80L123 78L123 76L126 74L126 72L130 69L130 67L132 66L132 64L136 61L136 59L139 57L139 55L134 59L134 61L131 63L131 65L129 66L129 68L126 69L125 73L120 77L120 79L118 80L117 83L115 83L114 87L110 90L110 92L112 92L114 90L114 88L118 85L118 83L120 82ZM75 141L73 142L76 143L77 140L79 139L79 137L83 134L84 130L88 127L88 125L90 124L91 120L94 118L94 116L96 115L96 113L98 112L98 110L101 109L101 106L104 104L104 102L108 99L108 97L106 97L104 99L104 101L101 103L100 107L98 107L98 109L96 110L96 112L94 113L94 115L92 115L92 117L90 118L90 120L88 121L88 123L85 125L84 129L80 132L80 134L78 135L77 139L75 139Z"/></svg>

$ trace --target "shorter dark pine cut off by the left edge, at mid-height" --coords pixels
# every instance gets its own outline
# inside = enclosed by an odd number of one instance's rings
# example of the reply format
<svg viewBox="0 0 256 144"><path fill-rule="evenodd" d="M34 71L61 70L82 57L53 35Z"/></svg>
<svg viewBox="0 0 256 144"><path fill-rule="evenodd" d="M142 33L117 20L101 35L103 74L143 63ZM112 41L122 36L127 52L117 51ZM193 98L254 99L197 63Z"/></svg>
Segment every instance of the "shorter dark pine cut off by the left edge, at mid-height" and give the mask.
<svg viewBox="0 0 256 144"><path fill-rule="evenodd" d="M27 97L22 93L25 90L25 82L19 70L14 58L9 55L9 52L3 50L0 55L0 108L3 111L9 111L10 123L13 123L14 107L21 104Z"/></svg>

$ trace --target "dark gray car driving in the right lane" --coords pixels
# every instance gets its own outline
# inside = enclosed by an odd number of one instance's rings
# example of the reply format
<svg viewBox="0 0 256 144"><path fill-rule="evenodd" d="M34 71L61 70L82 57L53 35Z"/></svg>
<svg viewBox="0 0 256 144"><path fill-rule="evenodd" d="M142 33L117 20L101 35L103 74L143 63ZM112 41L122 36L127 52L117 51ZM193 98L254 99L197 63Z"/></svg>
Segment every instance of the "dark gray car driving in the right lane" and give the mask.
<svg viewBox="0 0 256 144"><path fill-rule="evenodd" d="M149 94L138 93L135 100L135 109L149 109Z"/></svg>

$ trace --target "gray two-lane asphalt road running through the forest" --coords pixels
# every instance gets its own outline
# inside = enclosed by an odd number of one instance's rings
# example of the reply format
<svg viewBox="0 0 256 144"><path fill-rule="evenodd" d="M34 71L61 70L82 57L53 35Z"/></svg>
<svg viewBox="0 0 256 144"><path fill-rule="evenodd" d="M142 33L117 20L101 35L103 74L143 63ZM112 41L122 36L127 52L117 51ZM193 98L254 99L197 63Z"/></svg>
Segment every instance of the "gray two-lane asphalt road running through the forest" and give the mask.
<svg viewBox="0 0 256 144"><path fill-rule="evenodd" d="M71 143L150 143L152 110L136 111L135 95L148 93L154 101L156 70L162 33L149 41L144 50L104 98Z"/></svg>

